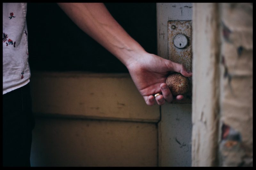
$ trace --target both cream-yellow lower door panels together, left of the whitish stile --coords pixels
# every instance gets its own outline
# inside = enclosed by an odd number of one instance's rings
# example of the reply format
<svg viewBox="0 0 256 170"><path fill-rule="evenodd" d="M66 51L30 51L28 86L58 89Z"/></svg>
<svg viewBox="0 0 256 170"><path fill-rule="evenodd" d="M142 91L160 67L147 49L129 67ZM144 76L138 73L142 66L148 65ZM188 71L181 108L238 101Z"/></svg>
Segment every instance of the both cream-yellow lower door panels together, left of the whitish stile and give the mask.
<svg viewBox="0 0 256 170"><path fill-rule="evenodd" d="M157 166L159 106L129 74L33 72L32 166Z"/></svg>

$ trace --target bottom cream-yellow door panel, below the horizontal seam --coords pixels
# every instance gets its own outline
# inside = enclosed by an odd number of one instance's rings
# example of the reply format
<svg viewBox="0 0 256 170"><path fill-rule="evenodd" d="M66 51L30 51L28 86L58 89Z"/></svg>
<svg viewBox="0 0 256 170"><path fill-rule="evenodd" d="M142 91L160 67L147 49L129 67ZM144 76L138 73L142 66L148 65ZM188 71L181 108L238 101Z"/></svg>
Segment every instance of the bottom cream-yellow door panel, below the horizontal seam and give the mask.
<svg viewBox="0 0 256 170"><path fill-rule="evenodd" d="M155 123L37 117L31 166L157 166Z"/></svg>

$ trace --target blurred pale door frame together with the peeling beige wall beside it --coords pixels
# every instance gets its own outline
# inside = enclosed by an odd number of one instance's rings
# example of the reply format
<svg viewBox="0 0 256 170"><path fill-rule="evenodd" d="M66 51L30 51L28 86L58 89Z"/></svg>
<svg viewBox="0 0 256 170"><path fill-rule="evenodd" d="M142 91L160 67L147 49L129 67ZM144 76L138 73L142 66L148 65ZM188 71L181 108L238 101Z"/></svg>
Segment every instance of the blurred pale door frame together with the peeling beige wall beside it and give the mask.
<svg viewBox="0 0 256 170"><path fill-rule="evenodd" d="M252 166L252 4L193 4L192 166Z"/></svg>

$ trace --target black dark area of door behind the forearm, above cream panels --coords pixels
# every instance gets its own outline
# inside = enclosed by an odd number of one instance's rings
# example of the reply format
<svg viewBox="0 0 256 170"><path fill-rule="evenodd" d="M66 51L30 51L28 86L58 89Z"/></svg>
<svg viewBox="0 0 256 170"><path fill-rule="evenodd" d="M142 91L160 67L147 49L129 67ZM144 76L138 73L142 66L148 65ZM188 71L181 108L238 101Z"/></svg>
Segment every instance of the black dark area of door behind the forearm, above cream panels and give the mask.
<svg viewBox="0 0 256 170"><path fill-rule="evenodd" d="M105 5L146 51L156 54L156 3ZM78 28L56 3L28 3L27 25L32 71L128 72L123 63Z"/></svg>

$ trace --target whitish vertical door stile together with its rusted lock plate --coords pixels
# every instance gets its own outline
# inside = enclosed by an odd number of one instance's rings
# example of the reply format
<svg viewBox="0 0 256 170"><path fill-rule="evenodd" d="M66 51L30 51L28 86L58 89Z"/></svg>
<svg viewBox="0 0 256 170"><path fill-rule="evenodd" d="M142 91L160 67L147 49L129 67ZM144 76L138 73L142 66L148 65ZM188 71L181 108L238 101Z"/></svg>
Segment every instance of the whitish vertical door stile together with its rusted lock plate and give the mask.
<svg viewBox="0 0 256 170"><path fill-rule="evenodd" d="M172 53L172 50L175 50L173 48L176 48L172 46L173 36L178 33L186 34L186 37L190 39L190 44L184 49L177 48L177 50L183 53L180 55L181 57L190 55L190 60L185 62L176 60L175 62L184 64L188 70L192 71L192 51L188 50L192 45L192 3L157 3L156 6L158 55L175 61L175 54ZM184 22L188 23L189 29L187 26L185 29L183 28ZM172 26L174 27L171 28ZM172 104L161 106L160 112L161 121L158 123L159 166L191 166L191 96L185 96L182 102L174 101Z"/></svg>

